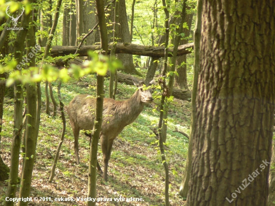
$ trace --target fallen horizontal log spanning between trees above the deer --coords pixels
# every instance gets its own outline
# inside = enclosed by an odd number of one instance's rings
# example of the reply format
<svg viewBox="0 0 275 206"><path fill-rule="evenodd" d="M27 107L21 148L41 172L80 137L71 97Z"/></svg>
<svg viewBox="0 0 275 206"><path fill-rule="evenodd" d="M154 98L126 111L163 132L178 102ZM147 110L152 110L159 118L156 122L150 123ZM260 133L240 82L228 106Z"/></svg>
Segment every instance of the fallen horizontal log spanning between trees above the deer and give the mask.
<svg viewBox="0 0 275 206"><path fill-rule="evenodd" d="M184 45L178 46L177 55L185 55L191 53L187 50L188 48L193 48L193 43L186 43ZM63 56L70 53L74 53L77 49L77 46L52 46L51 56ZM110 54L111 45L108 46L108 54ZM99 45L87 45L81 46L78 52L79 56L87 56L88 50L100 50ZM172 56L171 52L173 47L168 48L168 56ZM128 53L141 56L153 56L153 57L162 57L164 56L164 47L163 46L143 46L133 43L117 43L115 48L115 53Z"/></svg>

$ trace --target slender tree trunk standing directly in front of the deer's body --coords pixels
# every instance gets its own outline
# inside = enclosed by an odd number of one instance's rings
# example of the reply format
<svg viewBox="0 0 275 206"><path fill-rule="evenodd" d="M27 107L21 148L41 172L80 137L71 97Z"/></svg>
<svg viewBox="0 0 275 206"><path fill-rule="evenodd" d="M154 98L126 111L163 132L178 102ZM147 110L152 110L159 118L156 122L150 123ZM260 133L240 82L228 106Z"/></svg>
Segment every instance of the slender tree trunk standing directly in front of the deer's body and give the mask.
<svg viewBox="0 0 275 206"><path fill-rule="evenodd" d="M108 49L108 36L107 28L105 23L105 12L104 12L104 2L102 0L96 0L96 10L98 18L98 26L100 31L101 49L103 54L107 55L106 51ZM96 197L96 162L97 162L97 145L99 140L99 134L102 124L102 110L103 110L103 85L104 76L97 74L96 82L96 106L95 106L95 119L93 125L92 141L90 144L90 154L89 154L89 175L88 175L88 197ZM104 179L106 180L105 171L107 168L104 167ZM88 205L95 205L94 201L88 201Z"/></svg>

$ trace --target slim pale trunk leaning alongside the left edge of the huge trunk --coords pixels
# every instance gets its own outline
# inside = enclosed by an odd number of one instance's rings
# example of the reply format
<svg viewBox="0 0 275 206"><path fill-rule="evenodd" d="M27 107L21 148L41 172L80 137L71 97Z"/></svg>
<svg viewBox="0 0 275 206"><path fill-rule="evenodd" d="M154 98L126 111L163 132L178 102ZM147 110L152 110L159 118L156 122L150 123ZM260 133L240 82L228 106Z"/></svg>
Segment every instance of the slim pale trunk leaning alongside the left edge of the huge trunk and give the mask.
<svg viewBox="0 0 275 206"><path fill-rule="evenodd" d="M200 36L201 36L201 15L202 15L202 0L197 0L197 11L196 11L196 24L194 31L194 71L193 71L193 85L192 85L192 112L191 112L191 121L190 121L190 138L188 144L188 155L186 160L186 167L184 176L179 188L179 194L182 197L187 197L188 194L188 182L190 179L191 172L191 163L192 163L192 139L194 126L196 123L195 112L196 112L196 93L197 93L197 82L198 82L198 73L200 71L199 67L199 49L200 49Z"/></svg>

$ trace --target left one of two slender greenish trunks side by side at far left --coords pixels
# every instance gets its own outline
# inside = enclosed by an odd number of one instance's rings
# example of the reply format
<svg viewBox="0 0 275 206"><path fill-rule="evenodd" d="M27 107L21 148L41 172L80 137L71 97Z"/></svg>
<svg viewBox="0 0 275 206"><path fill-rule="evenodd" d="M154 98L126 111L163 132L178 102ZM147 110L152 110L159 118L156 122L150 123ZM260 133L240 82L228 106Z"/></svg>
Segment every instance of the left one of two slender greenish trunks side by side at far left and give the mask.
<svg viewBox="0 0 275 206"><path fill-rule="evenodd" d="M29 0L29 3L32 2L33 0ZM23 27L24 29L17 32L16 40L14 42L14 59L16 59L18 63L22 61L24 40L27 32L26 26L30 20L30 15L31 13L28 13L27 15L25 13L22 14L20 27ZM16 66L14 69L17 69ZM6 197L8 197L8 199L14 198L16 191L22 126L22 87L20 81L15 81L13 137L11 145L10 172L8 176L9 182L6 192ZM13 201L5 201L5 205L13 205Z"/></svg>

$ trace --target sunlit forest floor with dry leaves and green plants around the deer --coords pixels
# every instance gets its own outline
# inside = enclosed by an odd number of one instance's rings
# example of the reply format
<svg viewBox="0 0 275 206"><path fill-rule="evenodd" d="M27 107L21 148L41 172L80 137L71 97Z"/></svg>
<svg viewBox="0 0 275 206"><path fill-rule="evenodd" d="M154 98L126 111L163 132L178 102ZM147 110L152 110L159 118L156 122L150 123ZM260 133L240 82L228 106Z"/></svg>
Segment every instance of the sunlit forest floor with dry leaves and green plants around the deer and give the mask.
<svg viewBox="0 0 275 206"><path fill-rule="evenodd" d="M86 205L84 199L77 201L77 198L87 197L89 138L83 133L79 136L81 163L77 165L66 105L78 93L95 94L95 83L95 76L88 75L78 80L71 79L62 84L61 95L65 104L66 134L59 153L55 177L51 183L48 182L48 178L62 130L62 121L59 105L56 117L51 117L45 113L44 84L41 85L43 93L42 112L30 191L32 201L29 202L29 205ZM106 95L107 79L104 84ZM52 85L57 100L57 83L53 82ZM125 100L129 98L135 89L134 86L118 83L116 99ZM159 99L155 97L158 94L159 92L153 94L154 102L146 105L138 118L126 126L114 140L108 164L108 181L103 181L102 177L97 175L98 202L96 205L164 205L164 169L161 164L157 140L151 130L157 128L158 123ZM50 108L52 111L52 104L50 104ZM185 169L188 139L178 132L173 132L173 130L176 126L179 130L189 133L190 110L190 102L178 99L174 99L169 106L166 144L169 150L166 150L166 158L169 164L170 205L183 205L185 202L178 195L178 190ZM12 125L13 100L6 97L4 100L0 155L8 166L10 164ZM98 161L102 167L100 146L98 149ZM22 157L20 156L21 161ZM21 169L21 165L19 165L19 175ZM18 192L19 185L17 187ZM0 205L3 205L6 189L7 183L0 182ZM33 201L34 197L38 197L38 200ZM121 197L120 201L114 199L119 197ZM133 201L133 199L126 201L126 198L130 197L139 199L138 201ZM73 201L68 198L73 198Z"/></svg>

